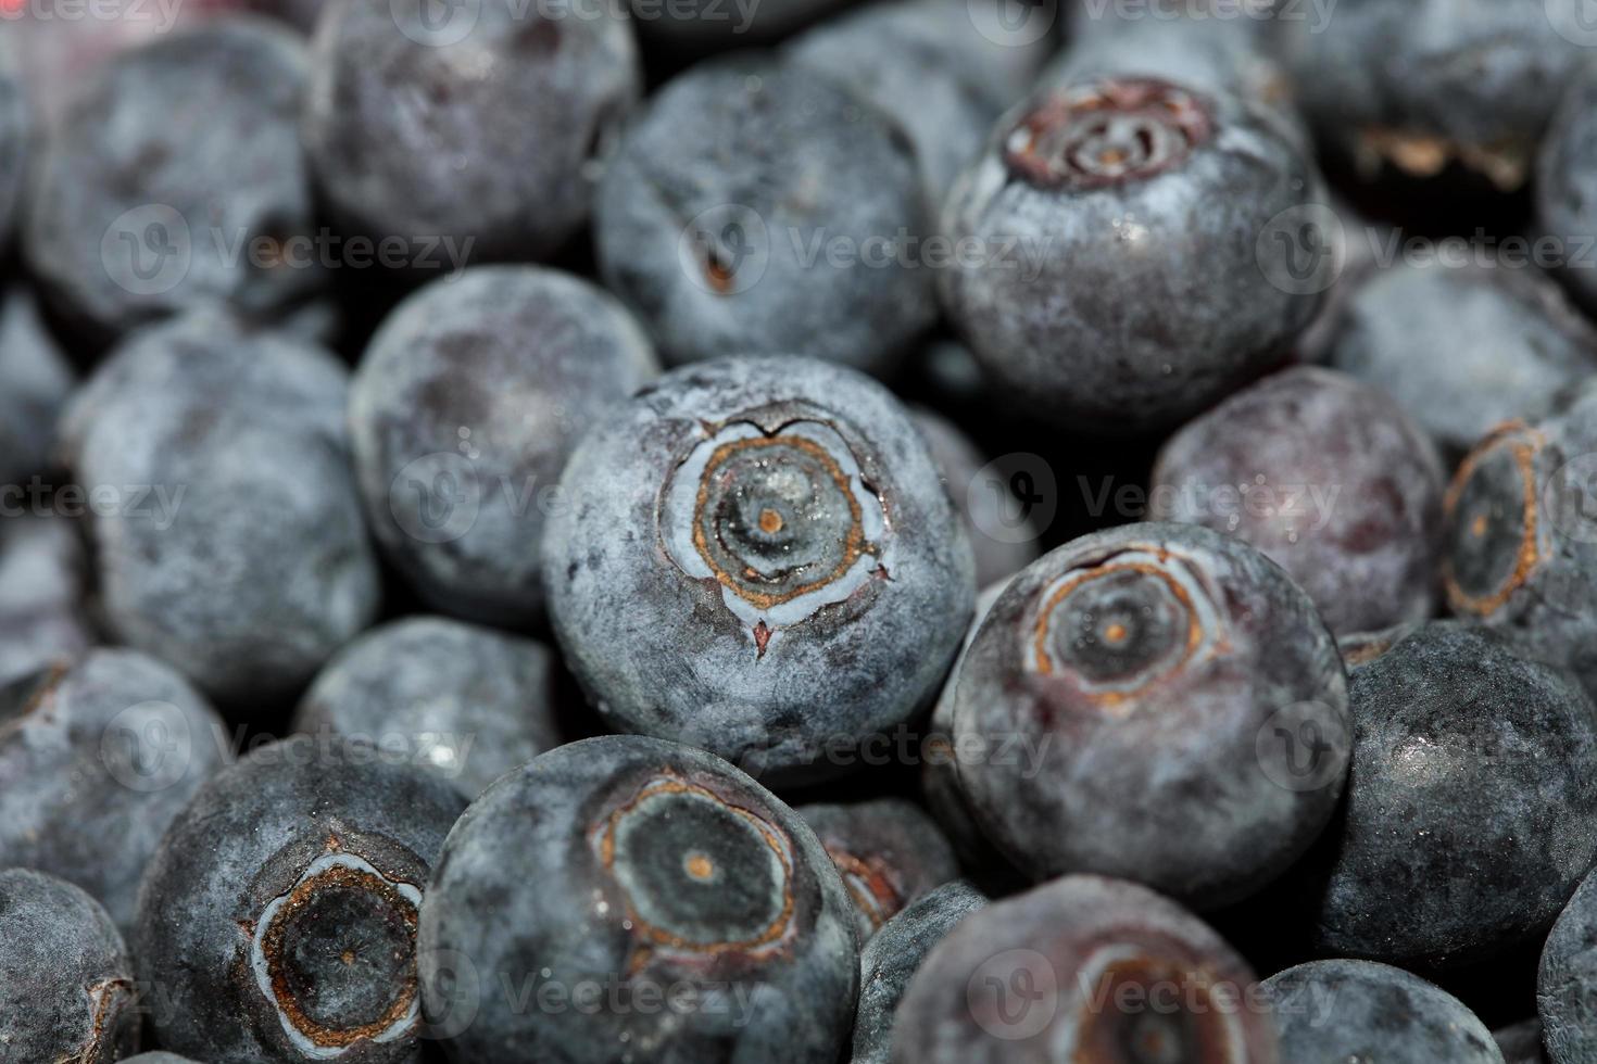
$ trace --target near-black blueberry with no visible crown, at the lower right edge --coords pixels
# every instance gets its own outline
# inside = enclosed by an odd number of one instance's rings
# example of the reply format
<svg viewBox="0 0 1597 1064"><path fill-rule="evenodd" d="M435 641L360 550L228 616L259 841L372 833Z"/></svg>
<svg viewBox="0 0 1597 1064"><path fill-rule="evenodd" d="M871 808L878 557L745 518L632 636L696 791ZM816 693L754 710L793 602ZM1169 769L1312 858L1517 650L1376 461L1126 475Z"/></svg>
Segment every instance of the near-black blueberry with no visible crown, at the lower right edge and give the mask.
<svg viewBox="0 0 1597 1064"><path fill-rule="evenodd" d="M1490 632L1433 622L1351 672L1322 952L1442 970L1543 935L1597 858L1597 710Z"/></svg>

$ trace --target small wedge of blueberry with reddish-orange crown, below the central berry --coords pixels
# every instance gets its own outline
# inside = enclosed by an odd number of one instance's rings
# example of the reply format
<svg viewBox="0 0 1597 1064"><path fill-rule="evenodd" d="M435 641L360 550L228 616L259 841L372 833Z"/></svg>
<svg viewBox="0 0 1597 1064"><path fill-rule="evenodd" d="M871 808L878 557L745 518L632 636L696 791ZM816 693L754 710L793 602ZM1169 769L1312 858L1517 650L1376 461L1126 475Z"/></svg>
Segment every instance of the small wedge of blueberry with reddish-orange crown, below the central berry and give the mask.
<svg viewBox="0 0 1597 1064"><path fill-rule="evenodd" d="M936 822L902 798L798 806L853 898L859 941L909 903L955 879L960 863Z"/></svg>

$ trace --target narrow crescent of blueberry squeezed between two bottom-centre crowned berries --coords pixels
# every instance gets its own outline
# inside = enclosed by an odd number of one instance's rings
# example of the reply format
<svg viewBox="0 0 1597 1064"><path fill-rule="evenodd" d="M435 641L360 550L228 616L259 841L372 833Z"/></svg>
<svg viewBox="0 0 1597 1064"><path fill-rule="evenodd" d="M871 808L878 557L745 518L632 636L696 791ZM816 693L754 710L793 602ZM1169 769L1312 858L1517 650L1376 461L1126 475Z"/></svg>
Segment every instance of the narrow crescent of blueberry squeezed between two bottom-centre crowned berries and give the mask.
<svg viewBox="0 0 1597 1064"><path fill-rule="evenodd" d="M859 952L859 1008L854 1013L851 1064L888 1064L893 1013L926 954L953 925L987 904L963 879L942 884L904 906Z"/></svg>

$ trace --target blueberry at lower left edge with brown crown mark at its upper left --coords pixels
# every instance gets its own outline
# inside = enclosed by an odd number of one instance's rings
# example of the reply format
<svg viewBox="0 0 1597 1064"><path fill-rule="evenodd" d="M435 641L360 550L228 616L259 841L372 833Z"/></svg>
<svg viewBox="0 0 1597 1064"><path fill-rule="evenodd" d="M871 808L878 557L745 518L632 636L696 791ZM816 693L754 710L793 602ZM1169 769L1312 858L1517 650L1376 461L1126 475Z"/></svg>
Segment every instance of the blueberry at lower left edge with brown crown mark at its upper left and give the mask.
<svg viewBox="0 0 1597 1064"><path fill-rule="evenodd" d="M88 651L0 689L0 866L73 882L131 932L144 868L227 737L182 676L137 651Z"/></svg>

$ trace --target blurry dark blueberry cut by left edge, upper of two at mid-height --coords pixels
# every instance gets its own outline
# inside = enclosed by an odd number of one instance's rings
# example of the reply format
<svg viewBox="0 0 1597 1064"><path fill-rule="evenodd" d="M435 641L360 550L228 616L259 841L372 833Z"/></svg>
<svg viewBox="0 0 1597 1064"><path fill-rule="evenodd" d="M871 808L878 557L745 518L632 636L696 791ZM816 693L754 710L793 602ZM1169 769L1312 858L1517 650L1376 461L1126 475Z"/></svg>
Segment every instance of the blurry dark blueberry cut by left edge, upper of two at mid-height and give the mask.
<svg viewBox="0 0 1597 1064"><path fill-rule="evenodd" d="M45 472L72 384L65 351L45 327L34 294L10 289L0 303L0 485L24 485Z"/></svg>

